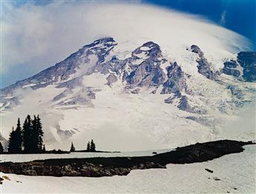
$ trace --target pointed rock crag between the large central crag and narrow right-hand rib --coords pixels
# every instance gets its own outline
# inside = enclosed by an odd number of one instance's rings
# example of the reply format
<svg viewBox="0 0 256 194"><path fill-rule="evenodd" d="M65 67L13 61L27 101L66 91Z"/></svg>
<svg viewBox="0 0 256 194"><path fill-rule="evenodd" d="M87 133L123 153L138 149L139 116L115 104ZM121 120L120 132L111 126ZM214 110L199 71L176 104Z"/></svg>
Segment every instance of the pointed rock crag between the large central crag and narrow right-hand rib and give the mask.
<svg viewBox="0 0 256 194"><path fill-rule="evenodd" d="M168 80L163 83L162 94L166 93L178 93L182 90L186 90L186 78L184 73L175 61L167 67Z"/></svg>

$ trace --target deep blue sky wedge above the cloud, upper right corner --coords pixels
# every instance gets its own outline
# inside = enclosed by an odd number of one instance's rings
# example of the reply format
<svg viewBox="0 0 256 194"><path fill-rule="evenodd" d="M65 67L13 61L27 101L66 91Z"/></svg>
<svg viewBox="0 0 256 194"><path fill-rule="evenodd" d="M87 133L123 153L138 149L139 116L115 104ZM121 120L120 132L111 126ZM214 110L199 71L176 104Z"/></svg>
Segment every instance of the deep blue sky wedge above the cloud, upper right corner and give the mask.
<svg viewBox="0 0 256 194"><path fill-rule="evenodd" d="M205 16L252 41L256 48L255 0L145 0L144 3Z"/></svg>

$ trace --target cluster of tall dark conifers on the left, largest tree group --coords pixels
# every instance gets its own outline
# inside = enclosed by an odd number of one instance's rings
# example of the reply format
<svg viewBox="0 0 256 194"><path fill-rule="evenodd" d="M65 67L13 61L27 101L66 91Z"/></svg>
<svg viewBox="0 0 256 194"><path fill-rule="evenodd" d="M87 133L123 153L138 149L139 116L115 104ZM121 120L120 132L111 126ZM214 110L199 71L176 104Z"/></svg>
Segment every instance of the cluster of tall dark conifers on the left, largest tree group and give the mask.
<svg viewBox="0 0 256 194"><path fill-rule="evenodd" d="M8 153L42 153L45 150L43 136L44 132L39 115L33 116L33 119L27 115L23 127L21 127L18 118L16 129L14 130L13 127L9 136Z"/></svg>

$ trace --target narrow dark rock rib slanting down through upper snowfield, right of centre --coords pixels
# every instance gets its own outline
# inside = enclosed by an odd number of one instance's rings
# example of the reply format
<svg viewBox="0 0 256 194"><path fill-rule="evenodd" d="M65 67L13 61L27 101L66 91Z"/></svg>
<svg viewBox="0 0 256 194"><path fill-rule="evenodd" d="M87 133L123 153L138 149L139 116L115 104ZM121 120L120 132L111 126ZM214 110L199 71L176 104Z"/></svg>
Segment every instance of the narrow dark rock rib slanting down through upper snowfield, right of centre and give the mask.
<svg viewBox="0 0 256 194"><path fill-rule="evenodd" d="M198 73L202 74L203 76L206 76L206 78L209 78L211 80L214 80L216 78L218 73L214 73L211 70L211 65L207 61L207 59L203 56L202 50L200 50L200 47L197 47L197 45L191 46L191 51L193 53L197 53L199 58L197 59L197 69Z"/></svg>

